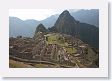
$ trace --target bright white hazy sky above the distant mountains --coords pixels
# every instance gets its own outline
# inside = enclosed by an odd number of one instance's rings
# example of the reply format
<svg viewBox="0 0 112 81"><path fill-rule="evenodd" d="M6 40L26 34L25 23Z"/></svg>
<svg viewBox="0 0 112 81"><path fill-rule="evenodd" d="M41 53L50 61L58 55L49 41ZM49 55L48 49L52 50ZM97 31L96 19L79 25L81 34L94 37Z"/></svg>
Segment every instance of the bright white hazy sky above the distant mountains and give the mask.
<svg viewBox="0 0 112 81"><path fill-rule="evenodd" d="M26 19L36 19L44 20L47 17L60 14L66 9L9 9L9 16L18 17L22 20ZM77 11L75 9L70 9L70 11Z"/></svg>

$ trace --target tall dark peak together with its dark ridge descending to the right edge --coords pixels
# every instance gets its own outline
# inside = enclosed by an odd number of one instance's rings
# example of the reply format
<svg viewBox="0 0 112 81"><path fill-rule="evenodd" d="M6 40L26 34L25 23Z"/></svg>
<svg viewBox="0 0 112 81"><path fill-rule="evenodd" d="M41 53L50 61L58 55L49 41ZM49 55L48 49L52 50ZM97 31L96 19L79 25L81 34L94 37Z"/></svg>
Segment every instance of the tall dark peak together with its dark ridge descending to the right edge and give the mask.
<svg viewBox="0 0 112 81"><path fill-rule="evenodd" d="M49 30L78 37L91 46L99 48L99 28L75 20L67 10L60 14L54 26Z"/></svg>

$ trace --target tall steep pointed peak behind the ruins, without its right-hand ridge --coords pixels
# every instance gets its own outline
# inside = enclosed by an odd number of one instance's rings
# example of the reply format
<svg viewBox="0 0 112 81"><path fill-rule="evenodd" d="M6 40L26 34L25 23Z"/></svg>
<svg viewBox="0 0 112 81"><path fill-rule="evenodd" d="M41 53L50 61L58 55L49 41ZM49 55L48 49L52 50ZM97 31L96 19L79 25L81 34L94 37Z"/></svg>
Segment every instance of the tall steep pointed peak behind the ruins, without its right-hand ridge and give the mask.
<svg viewBox="0 0 112 81"><path fill-rule="evenodd" d="M59 15L54 27L58 32L65 34L73 34L74 28L77 27L77 22L70 15L69 11L65 10Z"/></svg>

